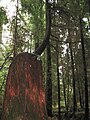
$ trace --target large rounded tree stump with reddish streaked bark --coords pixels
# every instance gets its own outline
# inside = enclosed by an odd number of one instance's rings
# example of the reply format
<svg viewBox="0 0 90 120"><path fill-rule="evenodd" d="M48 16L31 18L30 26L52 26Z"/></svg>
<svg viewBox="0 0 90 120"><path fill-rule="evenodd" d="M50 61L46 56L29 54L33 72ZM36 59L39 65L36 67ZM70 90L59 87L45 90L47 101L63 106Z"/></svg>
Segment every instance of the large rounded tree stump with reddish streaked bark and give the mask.
<svg viewBox="0 0 90 120"><path fill-rule="evenodd" d="M41 63L21 53L10 65L1 120L47 120Z"/></svg>

